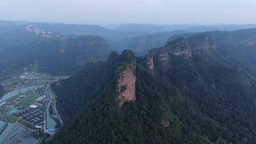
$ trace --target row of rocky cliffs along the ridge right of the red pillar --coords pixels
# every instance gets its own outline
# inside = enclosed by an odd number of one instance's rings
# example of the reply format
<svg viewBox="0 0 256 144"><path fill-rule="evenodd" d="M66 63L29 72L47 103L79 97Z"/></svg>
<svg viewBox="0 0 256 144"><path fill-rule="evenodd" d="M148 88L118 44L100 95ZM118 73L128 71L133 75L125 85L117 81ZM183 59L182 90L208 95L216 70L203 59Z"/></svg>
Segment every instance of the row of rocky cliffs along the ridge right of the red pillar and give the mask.
<svg viewBox="0 0 256 144"><path fill-rule="evenodd" d="M193 39L185 40L183 37L177 38L168 42L164 47L150 50L145 56L145 63L150 72L153 72L155 65L162 71L166 71L169 61L174 56L190 59L193 54L200 54L201 51L209 53L210 50L215 48L216 44L212 41L212 38L207 36L201 36L197 41Z"/></svg>

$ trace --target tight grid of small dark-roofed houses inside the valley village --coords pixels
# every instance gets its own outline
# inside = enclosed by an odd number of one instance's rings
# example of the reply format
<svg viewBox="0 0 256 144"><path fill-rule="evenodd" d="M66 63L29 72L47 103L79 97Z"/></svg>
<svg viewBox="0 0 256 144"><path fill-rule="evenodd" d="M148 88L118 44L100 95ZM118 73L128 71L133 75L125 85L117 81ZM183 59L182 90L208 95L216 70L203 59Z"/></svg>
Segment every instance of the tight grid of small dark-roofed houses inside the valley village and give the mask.
<svg viewBox="0 0 256 144"><path fill-rule="evenodd" d="M14 112L13 115L16 117L22 117L23 119L32 122L33 124L38 124L44 117L44 112L39 109L32 107L18 106L18 112Z"/></svg>

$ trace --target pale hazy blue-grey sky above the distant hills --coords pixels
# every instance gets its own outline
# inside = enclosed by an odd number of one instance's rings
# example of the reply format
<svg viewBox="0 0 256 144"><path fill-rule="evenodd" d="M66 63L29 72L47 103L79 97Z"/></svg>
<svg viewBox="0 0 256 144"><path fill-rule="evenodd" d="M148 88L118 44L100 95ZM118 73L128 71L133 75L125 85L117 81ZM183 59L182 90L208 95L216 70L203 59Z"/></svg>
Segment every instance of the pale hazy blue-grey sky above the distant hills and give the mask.
<svg viewBox="0 0 256 144"><path fill-rule="evenodd" d="M256 0L0 0L0 19L95 23L256 23Z"/></svg>

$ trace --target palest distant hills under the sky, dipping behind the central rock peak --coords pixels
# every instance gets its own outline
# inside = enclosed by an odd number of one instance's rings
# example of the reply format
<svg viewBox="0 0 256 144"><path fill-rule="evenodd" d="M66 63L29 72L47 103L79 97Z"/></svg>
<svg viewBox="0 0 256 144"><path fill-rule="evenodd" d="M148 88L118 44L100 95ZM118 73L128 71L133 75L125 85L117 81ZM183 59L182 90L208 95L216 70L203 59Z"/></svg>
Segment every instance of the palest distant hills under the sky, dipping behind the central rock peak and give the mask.
<svg viewBox="0 0 256 144"><path fill-rule="evenodd" d="M56 35L97 35L104 38L110 47L121 52L131 49L136 55L144 55L155 47L164 46L166 40L182 33L198 33L205 31L233 31L238 29L256 28L248 25L201 25L201 24L116 24L116 25L76 25L63 23L35 23L25 21L0 21L0 27L22 27L33 29L35 33L53 33ZM42 32L42 33L41 33ZM167 37L167 38L166 38Z"/></svg>

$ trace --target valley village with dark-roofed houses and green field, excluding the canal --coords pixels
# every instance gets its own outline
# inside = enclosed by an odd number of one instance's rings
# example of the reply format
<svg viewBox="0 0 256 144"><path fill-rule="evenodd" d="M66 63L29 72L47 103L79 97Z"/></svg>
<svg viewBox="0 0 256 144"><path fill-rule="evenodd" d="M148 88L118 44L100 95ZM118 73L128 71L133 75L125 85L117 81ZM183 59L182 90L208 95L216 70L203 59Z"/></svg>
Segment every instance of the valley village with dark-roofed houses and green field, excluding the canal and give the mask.
<svg viewBox="0 0 256 144"><path fill-rule="evenodd" d="M20 91L18 95L0 104L1 116L6 117L9 122L19 123L33 131L44 130L46 133L54 135L55 127L46 129L47 115L54 121L58 121L53 110L54 100L48 98L46 87L26 92ZM47 109L48 105L49 109Z"/></svg>

